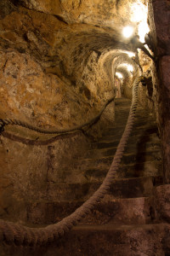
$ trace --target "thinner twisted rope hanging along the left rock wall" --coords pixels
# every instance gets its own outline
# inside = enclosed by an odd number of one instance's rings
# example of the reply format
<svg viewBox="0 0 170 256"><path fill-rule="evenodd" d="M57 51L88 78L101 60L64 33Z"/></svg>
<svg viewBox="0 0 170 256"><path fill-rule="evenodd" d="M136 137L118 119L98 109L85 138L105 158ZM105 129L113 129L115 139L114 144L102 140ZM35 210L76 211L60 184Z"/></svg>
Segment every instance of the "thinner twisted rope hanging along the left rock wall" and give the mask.
<svg viewBox="0 0 170 256"><path fill-rule="evenodd" d="M94 125L94 123L100 118L101 114L104 112L105 108L111 102L113 102L114 98L115 97L112 97L108 102L106 102L105 106L100 110L99 114L97 116L95 116L93 119L90 119L86 123L84 123L82 125L77 125L73 128L56 129L54 131L53 130L49 131L49 130L45 130L45 129L42 129L42 128L35 127L33 125L27 124L26 122L22 122L22 121L17 120L17 119L0 119L0 131L4 130L5 125L20 125L20 126L26 127L27 129L30 129L32 131L37 131L37 132L44 133L44 134L68 133L68 132L71 132L71 131L81 130L85 126Z"/></svg>

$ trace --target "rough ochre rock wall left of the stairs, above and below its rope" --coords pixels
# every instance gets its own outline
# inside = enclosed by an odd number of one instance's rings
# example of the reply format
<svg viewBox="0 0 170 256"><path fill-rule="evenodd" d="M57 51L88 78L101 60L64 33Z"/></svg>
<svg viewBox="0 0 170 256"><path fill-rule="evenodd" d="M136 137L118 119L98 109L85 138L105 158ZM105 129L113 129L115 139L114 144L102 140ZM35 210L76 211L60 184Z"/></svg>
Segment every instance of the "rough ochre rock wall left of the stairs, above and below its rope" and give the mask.
<svg viewBox="0 0 170 256"><path fill-rule="evenodd" d="M46 129L69 128L94 118L114 96L100 58L104 46L114 46L111 35L13 3L0 3L0 118ZM33 1L27 4L35 6ZM49 7L41 4L38 8ZM49 4L57 9L56 1ZM87 131L88 137L99 137L113 117L114 103ZM74 160L90 146L88 137L81 131L55 137L5 127L0 141L0 218L22 221L28 201L48 198L51 184L70 183Z"/></svg>

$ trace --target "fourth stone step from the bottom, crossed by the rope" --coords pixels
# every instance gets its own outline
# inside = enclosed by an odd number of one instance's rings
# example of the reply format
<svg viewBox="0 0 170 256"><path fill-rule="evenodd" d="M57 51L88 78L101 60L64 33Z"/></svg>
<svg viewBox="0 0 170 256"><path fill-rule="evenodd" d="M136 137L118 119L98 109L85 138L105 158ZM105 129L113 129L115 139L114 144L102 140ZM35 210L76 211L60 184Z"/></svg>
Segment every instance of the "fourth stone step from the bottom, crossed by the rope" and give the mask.
<svg viewBox="0 0 170 256"><path fill-rule="evenodd" d="M87 159L75 168L75 180L82 177L82 180L102 181L111 167L112 158ZM162 172L162 161L152 160L133 164L120 164L116 177L147 177L160 176Z"/></svg>

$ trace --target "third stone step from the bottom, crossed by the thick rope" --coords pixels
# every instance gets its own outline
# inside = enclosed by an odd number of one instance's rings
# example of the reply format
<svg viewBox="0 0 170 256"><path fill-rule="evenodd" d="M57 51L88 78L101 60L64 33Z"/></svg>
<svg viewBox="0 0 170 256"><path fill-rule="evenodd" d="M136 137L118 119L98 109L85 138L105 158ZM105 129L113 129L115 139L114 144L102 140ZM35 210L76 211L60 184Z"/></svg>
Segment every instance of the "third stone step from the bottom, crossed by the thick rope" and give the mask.
<svg viewBox="0 0 170 256"><path fill-rule="evenodd" d="M48 182L48 201L85 201L99 189L101 182L52 183ZM107 195L114 198L147 197L156 186L155 177L133 177L114 179Z"/></svg>

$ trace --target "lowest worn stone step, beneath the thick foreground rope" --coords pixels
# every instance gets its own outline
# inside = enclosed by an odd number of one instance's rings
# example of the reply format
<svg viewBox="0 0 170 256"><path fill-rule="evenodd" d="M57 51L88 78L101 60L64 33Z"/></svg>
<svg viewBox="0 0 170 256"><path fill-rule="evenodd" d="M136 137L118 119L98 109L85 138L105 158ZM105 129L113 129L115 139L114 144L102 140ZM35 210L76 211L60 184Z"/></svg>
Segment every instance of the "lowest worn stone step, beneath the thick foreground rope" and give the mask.
<svg viewBox="0 0 170 256"><path fill-rule="evenodd" d="M168 256L164 238L169 224L78 225L42 247L0 246L2 256Z"/></svg>

